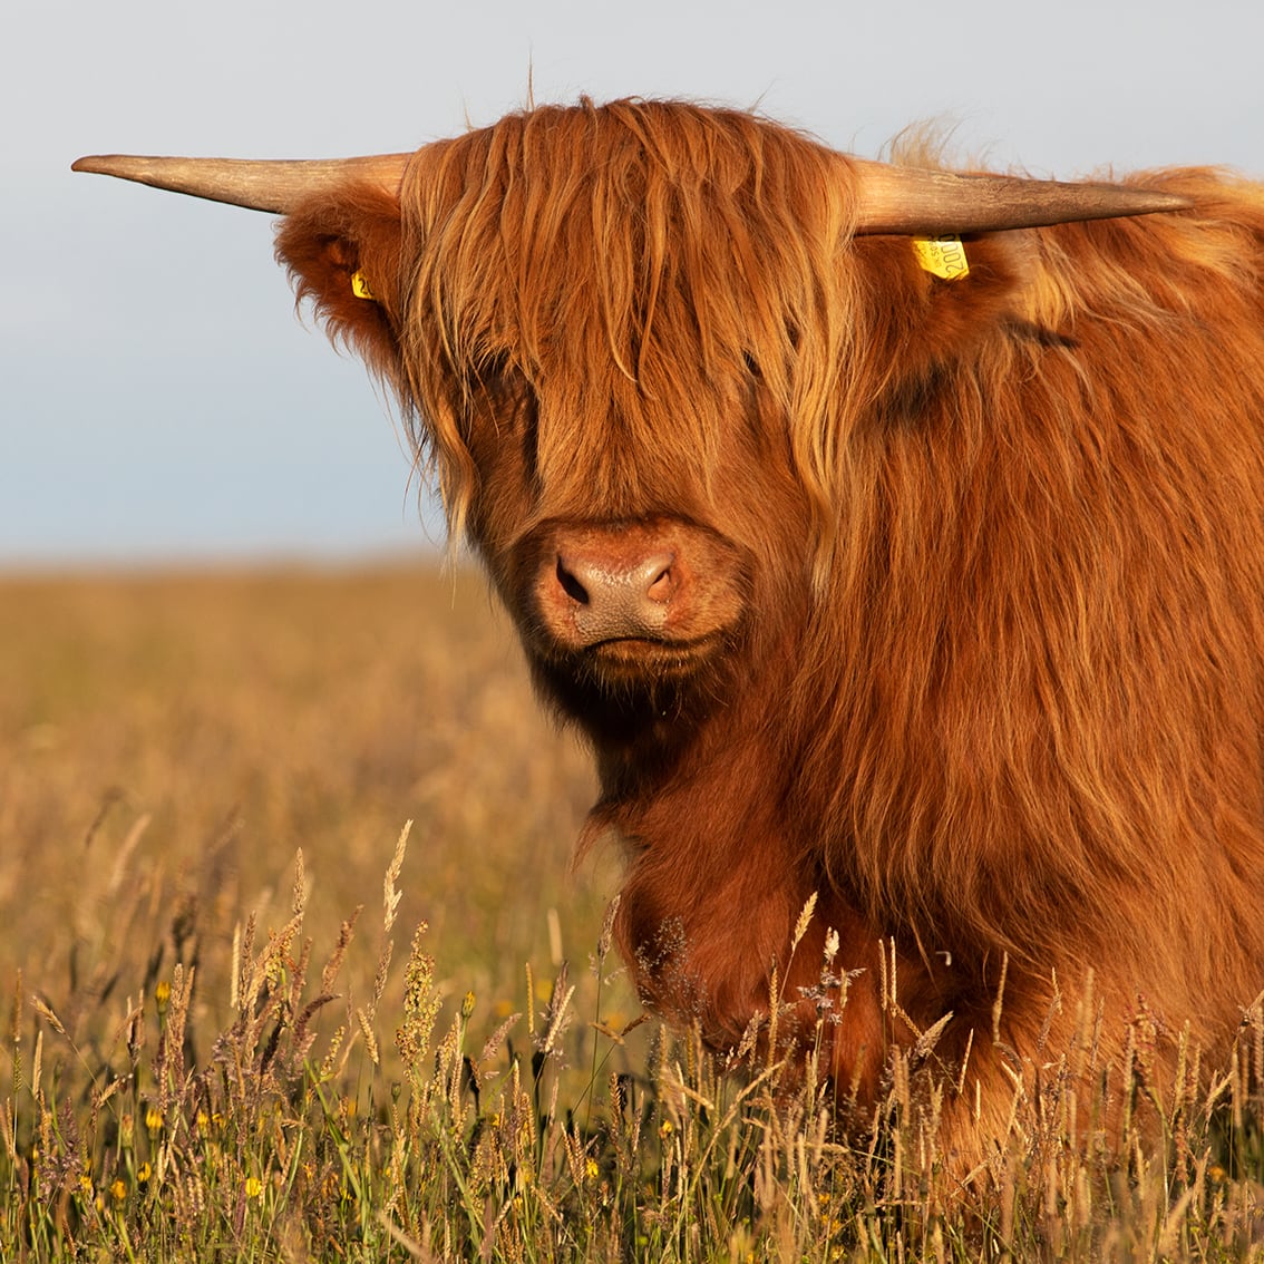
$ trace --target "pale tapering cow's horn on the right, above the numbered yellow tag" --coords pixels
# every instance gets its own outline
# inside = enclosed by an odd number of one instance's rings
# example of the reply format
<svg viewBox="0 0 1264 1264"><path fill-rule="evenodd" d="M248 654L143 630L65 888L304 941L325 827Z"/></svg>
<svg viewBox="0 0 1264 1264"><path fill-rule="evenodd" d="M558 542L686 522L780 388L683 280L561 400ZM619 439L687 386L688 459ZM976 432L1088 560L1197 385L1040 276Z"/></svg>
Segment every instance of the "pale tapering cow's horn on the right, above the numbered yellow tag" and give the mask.
<svg viewBox="0 0 1264 1264"><path fill-rule="evenodd" d="M944 236L1034 229L1186 210L1188 198L1126 185L1081 185L1019 176L964 176L851 159L860 174L856 231Z"/></svg>

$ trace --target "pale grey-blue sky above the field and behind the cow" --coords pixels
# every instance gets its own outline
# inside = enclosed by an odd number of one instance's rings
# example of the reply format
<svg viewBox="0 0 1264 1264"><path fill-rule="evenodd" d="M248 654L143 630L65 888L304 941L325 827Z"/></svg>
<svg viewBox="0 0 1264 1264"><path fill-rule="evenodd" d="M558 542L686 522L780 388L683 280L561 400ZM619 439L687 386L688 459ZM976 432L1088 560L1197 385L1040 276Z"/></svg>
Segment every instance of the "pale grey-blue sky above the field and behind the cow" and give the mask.
<svg viewBox="0 0 1264 1264"><path fill-rule="evenodd" d="M1256 0L5 0L0 570L444 540L388 402L296 315L269 217L81 154L386 153L533 92L757 107L863 157L932 120L1038 176L1264 176L1261 47Z"/></svg>

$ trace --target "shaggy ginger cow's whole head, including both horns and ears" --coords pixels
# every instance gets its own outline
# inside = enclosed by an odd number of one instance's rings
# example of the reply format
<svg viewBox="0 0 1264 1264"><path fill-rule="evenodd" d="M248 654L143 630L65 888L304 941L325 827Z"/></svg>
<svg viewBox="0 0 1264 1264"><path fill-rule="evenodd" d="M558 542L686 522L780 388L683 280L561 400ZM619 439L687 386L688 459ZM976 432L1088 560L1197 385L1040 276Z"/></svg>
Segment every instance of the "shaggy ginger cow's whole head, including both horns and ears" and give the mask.
<svg viewBox="0 0 1264 1264"><path fill-rule="evenodd" d="M286 216L300 297L391 384L537 680L599 744L688 729L806 616L852 436L997 317L1002 243L953 281L910 238L1181 205L632 101L345 163L76 166Z"/></svg>

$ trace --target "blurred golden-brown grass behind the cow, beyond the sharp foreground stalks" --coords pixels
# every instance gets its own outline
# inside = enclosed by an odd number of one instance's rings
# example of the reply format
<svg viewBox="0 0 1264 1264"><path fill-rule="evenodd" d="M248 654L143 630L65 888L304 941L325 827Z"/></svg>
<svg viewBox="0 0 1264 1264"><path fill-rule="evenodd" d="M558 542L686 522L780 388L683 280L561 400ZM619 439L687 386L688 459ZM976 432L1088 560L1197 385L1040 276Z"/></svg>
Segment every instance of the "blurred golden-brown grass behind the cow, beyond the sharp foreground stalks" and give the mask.
<svg viewBox="0 0 1264 1264"><path fill-rule="evenodd" d="M397 927L430 924L474 1034L525 1009L525 963L545 982L569 958L583 986L618 858L571 871L588 758L541 714L480 576L9 578L0 664L0 980L20 972L81 1047L176 961L198 968L195 1042L220 1030L234 930L284 924L300 848L317 951L364 905L329 1007L345 1019L408 819ZM603 1012L635 1012L622 986Z"/></svg>

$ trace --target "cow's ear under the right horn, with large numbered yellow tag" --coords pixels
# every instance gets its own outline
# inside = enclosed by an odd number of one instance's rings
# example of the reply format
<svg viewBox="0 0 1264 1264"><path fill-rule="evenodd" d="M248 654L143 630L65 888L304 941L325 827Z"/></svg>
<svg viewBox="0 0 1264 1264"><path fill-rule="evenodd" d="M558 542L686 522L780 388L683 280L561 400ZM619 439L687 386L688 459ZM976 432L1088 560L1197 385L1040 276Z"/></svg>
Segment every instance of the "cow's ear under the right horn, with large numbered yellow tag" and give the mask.
<svg viewBox="0 0 1264 1264"><path fill-rule="evenodd" d="M857 238L854 249L871 296L868 349L885 378L875 393L887 399L920 396L1014 319L1023 267L1011 234Z"/></svg>

